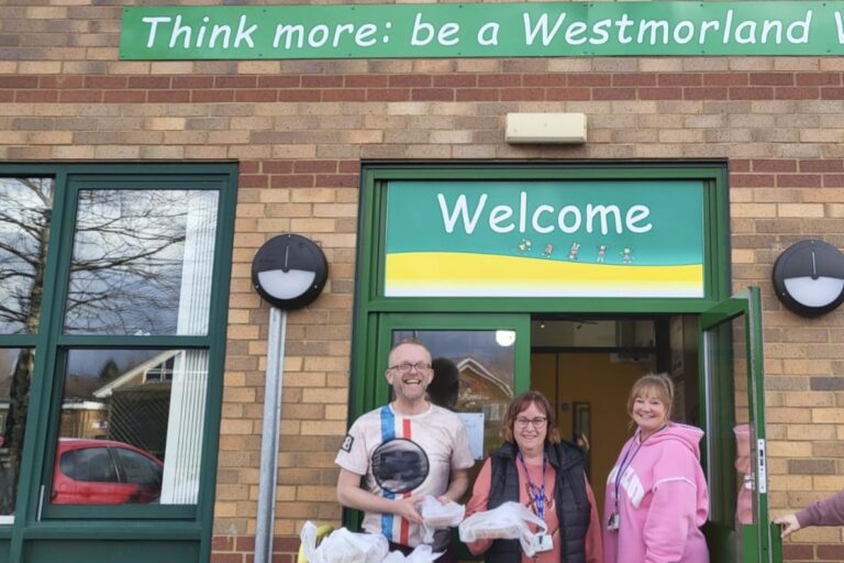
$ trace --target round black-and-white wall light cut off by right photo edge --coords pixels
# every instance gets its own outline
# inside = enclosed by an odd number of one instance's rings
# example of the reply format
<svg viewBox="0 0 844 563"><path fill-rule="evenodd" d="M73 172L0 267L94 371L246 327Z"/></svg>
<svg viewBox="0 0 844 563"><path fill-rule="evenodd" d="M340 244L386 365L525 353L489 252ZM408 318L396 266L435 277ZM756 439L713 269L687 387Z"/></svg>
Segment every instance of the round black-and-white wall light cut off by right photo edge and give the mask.
<svg viewBox="0 0 844 563"><path fill-rule="evenodd" d="M844 254L823 241L800 241L782 252L771 274L777 298L801 317L819 317L844 302Z"/></svg>

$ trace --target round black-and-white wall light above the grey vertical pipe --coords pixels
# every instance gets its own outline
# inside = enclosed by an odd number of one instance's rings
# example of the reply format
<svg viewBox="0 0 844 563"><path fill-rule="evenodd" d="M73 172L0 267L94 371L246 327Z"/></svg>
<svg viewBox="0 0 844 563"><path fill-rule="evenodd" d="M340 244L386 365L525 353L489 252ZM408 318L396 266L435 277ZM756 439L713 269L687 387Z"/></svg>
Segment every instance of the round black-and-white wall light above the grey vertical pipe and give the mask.
<svg viewBox="0 0 844 563"><path fill-rule="evenodd" d="M279 234L258 249L252 261L252 285L279 309L299 309L320 296L329 278L322 249L299 234Z"/></svg>

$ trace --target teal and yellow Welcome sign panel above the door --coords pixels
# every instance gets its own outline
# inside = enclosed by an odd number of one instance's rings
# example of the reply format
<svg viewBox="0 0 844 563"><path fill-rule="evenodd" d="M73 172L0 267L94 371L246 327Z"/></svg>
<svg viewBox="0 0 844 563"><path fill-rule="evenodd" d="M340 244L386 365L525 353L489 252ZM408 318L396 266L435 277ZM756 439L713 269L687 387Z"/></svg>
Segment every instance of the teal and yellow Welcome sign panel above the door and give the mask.
<svg viewBox="0 0 844 563"><path fill-rule="evenodd" d="M703 185L390 181L388 297L704 296Z"/></svg>

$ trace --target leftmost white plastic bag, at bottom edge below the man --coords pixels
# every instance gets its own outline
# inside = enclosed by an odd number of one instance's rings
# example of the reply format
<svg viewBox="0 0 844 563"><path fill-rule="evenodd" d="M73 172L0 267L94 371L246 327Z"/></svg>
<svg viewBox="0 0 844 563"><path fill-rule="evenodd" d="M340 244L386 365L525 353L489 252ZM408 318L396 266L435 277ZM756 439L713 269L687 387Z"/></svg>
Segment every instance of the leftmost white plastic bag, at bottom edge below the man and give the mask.
<svg viewBox="0 0 844 563"><path fill-rule="evenodd" d="M331 532L316 545L316 527L304 522L299 534L308 563L381 563L390 551L380 533L355 533L345 528Z"/></svg>

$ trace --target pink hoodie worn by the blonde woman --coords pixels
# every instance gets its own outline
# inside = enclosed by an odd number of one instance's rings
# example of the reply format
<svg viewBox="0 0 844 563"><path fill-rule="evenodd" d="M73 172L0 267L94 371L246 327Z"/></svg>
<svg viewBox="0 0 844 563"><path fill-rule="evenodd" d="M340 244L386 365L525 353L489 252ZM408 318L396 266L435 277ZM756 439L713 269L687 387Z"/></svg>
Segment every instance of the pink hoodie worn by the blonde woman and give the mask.
<svg viewBox="0 0 844 563"><path fill-rule="evenodd" d="M628 440L607 478L603 509L604 563L708 563L700 527L709 512L709 489L700 466L699 428L669 423L644 442ZM626 457L626 460L625 460ZM615 510L619 529L608 530Z"/></svg>

